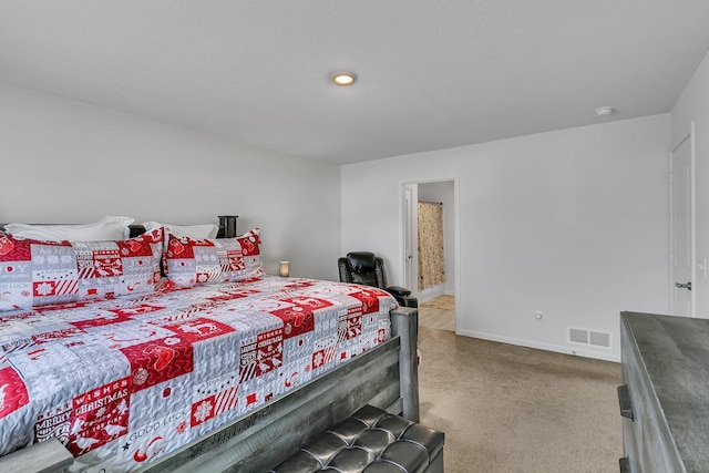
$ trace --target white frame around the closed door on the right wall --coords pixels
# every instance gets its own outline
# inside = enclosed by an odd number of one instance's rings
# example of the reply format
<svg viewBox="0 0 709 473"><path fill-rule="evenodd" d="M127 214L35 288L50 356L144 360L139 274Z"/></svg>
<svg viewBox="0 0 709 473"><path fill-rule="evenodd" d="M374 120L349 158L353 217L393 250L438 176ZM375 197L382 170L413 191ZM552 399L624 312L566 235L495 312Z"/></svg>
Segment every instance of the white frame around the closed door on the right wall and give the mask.
<svg viewBox="0 0 709 473"><path fill-rule="evenodd" d="M690 223L690 265L691 265L691 282L692 290L690 294L690 315L689 317L697 317L697 178L696 178L696 143L695 143L695 122L689 124L689 134L685 135L682 140L677 143L676 146L669 153L669 308L668 313L675 315L675 258L672 250L675 248L675 178L674 171L674 155L679 147L689 140L689 185L691 187L689 193L689 219Z"/></svg>

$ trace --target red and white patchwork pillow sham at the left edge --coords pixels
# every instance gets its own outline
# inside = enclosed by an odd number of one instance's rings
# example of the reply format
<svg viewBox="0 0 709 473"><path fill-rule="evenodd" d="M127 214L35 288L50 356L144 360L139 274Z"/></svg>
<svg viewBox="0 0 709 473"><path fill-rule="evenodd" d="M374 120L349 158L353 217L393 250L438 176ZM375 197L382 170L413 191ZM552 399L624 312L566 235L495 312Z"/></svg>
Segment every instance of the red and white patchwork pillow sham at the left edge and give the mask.
<svg viewBox="0 0 709 473"><path fill-rule="evenodd" d="M117 241L48 241L0 233L0 311L150 292L163 232Z"/></svg>

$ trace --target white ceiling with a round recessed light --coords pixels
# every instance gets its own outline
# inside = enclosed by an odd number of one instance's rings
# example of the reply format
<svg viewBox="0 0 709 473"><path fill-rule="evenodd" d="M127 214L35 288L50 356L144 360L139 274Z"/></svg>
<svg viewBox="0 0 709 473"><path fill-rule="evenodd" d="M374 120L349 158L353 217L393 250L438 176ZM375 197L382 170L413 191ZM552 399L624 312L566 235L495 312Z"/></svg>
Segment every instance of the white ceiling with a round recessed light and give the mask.
<svg viewBox="0 0 709 473"><path fill-rule="evenodd" d="M336 163L666 113L708 50L707 0L0 0L0 82Z"/></svg>

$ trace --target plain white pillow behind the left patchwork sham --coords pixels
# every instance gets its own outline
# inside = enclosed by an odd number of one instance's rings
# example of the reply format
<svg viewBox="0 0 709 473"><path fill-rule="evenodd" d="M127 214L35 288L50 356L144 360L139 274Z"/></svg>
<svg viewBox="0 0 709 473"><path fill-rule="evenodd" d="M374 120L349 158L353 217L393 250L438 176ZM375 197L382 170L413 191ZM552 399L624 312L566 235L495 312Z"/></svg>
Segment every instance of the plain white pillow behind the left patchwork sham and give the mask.
<svg viewBox="0 0 709 473"><path fill-rule="evenodd" d="M130 217L103 217L93 224L83 225L31 225L8 224L4 230L17 238L32 238L44 241L105 241L131 236Z"/></svg>

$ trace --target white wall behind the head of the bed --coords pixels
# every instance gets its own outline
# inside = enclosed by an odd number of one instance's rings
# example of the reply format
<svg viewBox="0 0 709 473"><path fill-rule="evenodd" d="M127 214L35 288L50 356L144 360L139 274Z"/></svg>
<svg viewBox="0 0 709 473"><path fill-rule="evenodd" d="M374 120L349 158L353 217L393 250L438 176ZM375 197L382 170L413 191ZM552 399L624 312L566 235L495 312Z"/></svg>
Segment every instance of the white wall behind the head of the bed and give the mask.
<svg viewBox="0 0 709 473"><path fill-rule="evenodd" d="M265 269L337 279L339 166L0 84L0 222L125 215L175 224L238 215Z"/></svg>

